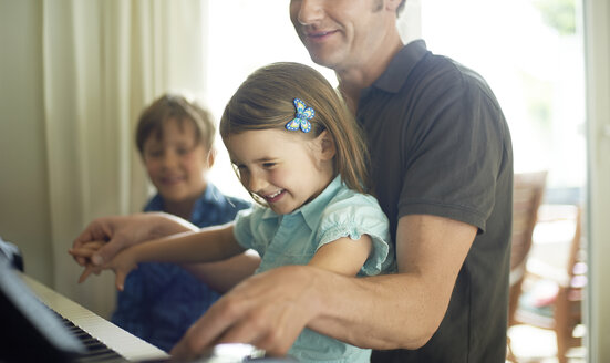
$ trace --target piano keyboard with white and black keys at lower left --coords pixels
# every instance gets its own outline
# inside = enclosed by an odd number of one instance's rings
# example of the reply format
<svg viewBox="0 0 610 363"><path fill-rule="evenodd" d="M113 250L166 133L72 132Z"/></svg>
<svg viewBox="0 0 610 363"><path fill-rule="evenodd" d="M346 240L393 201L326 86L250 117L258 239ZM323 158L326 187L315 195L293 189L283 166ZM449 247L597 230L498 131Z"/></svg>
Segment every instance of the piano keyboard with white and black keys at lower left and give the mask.
<svg viewBox="0 0 610 363"><path fill-rule="evenodd" d="M87 354L76 362L161 362L169 357L161 349L132 335L27 274L20 273L20 277L38 299L60 315L68 329L84 343Z"/></svg>

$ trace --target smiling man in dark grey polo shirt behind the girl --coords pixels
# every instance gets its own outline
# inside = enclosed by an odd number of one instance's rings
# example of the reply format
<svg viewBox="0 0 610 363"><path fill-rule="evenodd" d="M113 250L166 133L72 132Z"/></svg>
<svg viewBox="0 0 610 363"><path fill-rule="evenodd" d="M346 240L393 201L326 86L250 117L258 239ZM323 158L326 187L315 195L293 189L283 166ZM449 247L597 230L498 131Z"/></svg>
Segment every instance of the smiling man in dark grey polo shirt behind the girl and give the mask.
<svg viewBox="0 0 610 363"><path fill-rule="evenodd" d="M401 3L290 2L312 60L335 71L366 131L399 273L356 279L292 266L248 278L188 330L173 354L192 357L219 342L283 354L308 326L373 348L379 362L504 362L508 127L477 74L433 55L422 41L403 46L395 28ZM92 239L87 230L75 243Z"/></svg>

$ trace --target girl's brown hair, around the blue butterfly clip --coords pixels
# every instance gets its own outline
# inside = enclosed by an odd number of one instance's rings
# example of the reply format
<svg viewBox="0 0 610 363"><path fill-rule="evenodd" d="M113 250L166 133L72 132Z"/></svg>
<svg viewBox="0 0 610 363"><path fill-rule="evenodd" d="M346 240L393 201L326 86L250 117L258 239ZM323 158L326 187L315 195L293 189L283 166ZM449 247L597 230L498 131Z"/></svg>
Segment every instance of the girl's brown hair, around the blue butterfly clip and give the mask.
<svg viewBox="0 0 610 363"><path fill-rule="evenodd" d="M287 131L296 116L294 98L316 111L311 132ZM278 128L316 138L328 131L334 141L334 173L353 190L369 193L369 153L361 128L343 98L314 69L299 63L272 63L246 79L225 107L220 135L225 144L231 134Z"/></svg>

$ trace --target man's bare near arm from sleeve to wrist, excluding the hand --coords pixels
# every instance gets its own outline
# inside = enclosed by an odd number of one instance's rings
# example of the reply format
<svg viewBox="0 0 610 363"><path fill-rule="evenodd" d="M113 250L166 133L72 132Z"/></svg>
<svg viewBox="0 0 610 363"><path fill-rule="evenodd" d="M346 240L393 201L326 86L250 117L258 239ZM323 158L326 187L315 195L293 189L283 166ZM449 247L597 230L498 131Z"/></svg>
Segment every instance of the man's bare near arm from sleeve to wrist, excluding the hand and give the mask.
<svg viewBox="0 0 610 363"><path fill-rule="evenodd" d="M308 326L354 345L417 349L438 329L477 228L448 218L399 220L399 273L316 279L325 307ZM349 301L349 302L347 302ZM363 313L366 312L366 313Z"/></svg>

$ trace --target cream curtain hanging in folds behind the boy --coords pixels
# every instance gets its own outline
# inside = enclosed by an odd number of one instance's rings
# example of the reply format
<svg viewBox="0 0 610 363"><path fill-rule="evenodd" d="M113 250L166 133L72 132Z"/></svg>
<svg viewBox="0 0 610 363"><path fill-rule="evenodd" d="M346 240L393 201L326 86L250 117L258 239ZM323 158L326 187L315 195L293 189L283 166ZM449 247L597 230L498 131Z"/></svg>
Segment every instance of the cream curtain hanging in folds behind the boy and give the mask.
<svg viewBox="0 0 610 363"><path fill-rule="evenodd" d="M95 217L141 210L146 177L133 129L166 91L203 90L200 0L43 2L44 113L55 289L102 315L112 273L76 286L66 250Z"/></svg>

